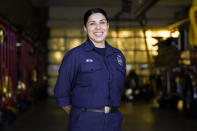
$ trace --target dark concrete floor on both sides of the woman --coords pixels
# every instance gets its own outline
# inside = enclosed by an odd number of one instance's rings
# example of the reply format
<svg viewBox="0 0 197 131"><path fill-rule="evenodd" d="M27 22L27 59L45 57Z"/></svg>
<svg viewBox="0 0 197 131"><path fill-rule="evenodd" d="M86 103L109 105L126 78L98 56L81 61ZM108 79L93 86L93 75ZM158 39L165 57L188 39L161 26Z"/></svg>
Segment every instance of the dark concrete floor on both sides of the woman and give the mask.
<svg viewBox="0 0 197 131"><path fill-rule="evenodd" d="M123 102L123 131L197 131L197 120L180 111L160 109L152 101ZM67 114L54 99L33 104L5 131L66 131Z"/></svg>

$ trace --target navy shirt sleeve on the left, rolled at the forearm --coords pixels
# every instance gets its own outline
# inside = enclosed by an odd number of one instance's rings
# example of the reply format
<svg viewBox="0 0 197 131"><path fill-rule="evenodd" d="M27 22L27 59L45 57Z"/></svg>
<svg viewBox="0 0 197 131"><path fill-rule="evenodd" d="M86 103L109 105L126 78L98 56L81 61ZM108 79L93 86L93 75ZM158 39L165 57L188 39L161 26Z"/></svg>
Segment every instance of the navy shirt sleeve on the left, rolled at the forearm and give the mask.
<svg viewBox="0 0 197 131"><path fill-rule="evenodd" d="M54 96L58 106L63 107L71 104L71 89L74 78L77 74L75 56L68 52L59 69L59 75L54 88Z"/></svg>

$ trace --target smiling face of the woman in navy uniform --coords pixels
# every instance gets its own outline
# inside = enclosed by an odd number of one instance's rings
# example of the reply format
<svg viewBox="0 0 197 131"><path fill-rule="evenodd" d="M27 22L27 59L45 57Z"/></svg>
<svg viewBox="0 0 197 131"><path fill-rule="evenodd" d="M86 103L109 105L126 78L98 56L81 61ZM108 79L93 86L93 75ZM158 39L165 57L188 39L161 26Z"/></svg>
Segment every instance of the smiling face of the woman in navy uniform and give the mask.
<svg viewBox="0 0 197 131"><path fill-rule="evenodd" d="M102 13L94 13L89 16L84 30L95 46L105 44L109 24Z"/></svg>

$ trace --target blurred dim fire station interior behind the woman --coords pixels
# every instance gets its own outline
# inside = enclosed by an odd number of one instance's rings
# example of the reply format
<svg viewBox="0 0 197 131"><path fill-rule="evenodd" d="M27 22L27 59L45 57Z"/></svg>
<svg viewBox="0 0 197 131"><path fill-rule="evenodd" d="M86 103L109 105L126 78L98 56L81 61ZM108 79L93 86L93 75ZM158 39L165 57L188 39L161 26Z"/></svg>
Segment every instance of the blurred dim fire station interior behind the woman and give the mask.
<svg viewBox="0 0 197 131"><path fill-rule="evenodd" d="M67 130L53 90L93 7L126 58L122 130L196 131L197 0L1 0L0 130Z"/></svg>

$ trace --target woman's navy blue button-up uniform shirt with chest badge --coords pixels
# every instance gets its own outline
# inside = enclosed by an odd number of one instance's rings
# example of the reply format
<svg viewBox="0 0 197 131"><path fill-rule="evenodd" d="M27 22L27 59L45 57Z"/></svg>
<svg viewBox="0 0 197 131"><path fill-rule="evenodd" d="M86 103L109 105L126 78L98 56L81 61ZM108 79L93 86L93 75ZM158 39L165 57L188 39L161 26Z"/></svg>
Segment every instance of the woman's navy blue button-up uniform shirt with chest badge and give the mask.
<svg viewBox="0 0 197 131"><path fill-rule="evenodd" d="M54 89L58 106L120 106L125 67L125 57L120 50L105 42L103 55L88 39L63 58Z"/></svg>

